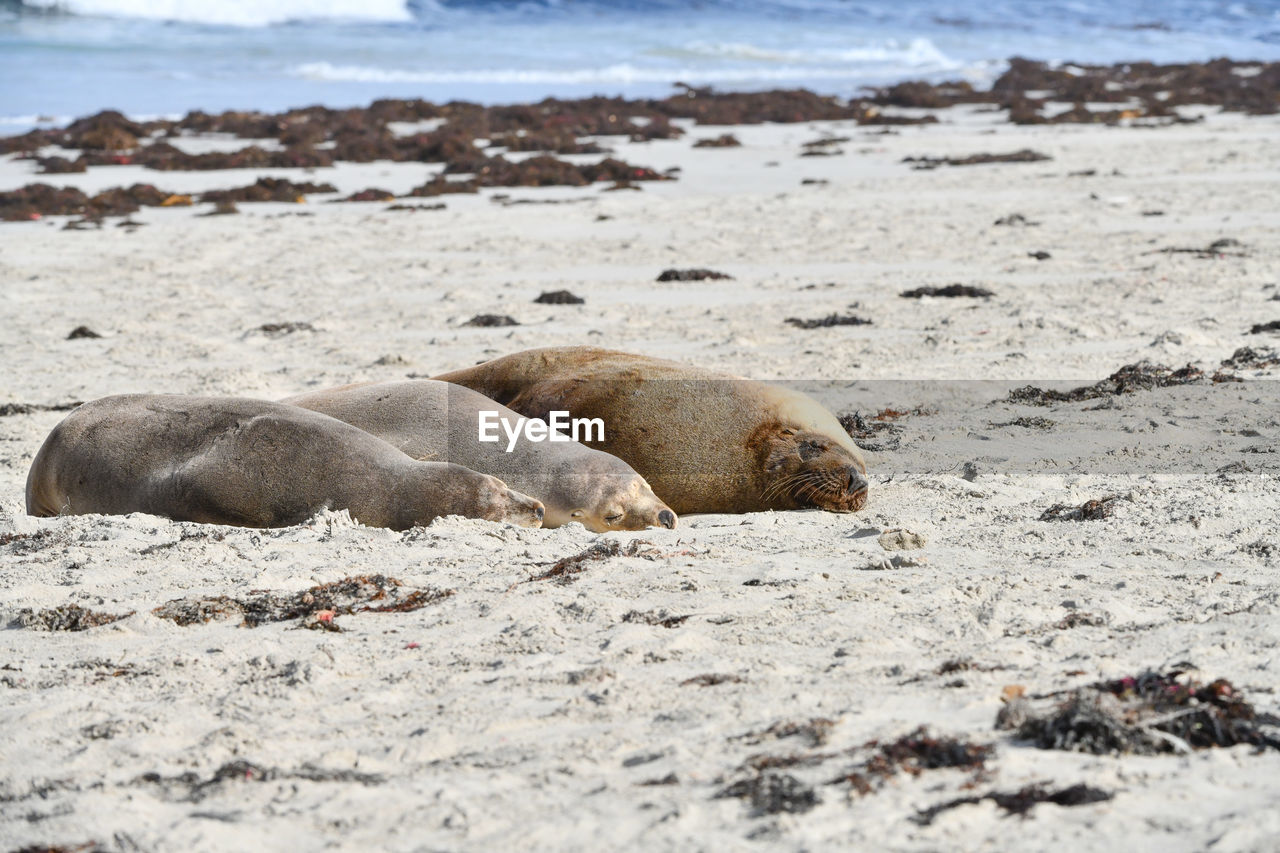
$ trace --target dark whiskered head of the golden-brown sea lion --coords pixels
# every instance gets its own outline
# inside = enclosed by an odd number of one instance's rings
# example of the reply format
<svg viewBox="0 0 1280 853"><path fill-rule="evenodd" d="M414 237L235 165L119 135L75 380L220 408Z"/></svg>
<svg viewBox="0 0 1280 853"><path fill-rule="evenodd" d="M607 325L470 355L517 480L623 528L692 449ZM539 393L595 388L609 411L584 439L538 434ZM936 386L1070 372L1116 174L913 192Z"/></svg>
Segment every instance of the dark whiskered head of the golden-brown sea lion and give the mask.
<svg viewBox="0 0 1280 853"><path fill-rule="evenodd" d="M764 442L764 497L777 508L856 512L867 506L867 464L849 439L782 424Z"/></svg>

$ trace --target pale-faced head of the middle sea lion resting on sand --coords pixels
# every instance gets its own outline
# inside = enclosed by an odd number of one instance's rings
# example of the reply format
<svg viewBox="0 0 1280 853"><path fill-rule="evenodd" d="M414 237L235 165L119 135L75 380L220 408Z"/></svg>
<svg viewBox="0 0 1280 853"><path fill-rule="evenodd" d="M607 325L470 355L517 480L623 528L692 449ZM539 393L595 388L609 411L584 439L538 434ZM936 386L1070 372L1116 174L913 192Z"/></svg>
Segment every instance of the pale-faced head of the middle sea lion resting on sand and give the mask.
<svg viewBox="0 0 1280 853"><path fill-rule="evenodd" d="M608 456L600 453L600 456ZM622 460L608 456L612 462L600 470L594 467L576 474L576 483L568 476L561 479L566 488L557 493L544 493L547 501L547 526L559 526L577 521L588 530L607 533L609 530L644 530L645 528L676 526L676 514L658 500L643 476L636 474ZM593 462L602 462L596 459Z"/></svg>

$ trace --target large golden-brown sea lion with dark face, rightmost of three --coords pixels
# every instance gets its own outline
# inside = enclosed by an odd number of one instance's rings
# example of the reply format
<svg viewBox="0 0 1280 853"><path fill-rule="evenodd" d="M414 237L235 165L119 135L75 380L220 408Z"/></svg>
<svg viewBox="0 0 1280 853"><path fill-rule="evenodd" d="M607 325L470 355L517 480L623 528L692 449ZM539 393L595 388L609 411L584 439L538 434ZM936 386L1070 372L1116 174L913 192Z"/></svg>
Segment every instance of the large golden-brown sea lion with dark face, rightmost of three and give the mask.
<svg viewBox="0 0 1280 853"><path fill-rule="evenodd" d="M599 418L593 447L621 457L686 512L867 503L867 465L835 415L780 386L594 347L527 350L436 379L530 418Z"/></svg>

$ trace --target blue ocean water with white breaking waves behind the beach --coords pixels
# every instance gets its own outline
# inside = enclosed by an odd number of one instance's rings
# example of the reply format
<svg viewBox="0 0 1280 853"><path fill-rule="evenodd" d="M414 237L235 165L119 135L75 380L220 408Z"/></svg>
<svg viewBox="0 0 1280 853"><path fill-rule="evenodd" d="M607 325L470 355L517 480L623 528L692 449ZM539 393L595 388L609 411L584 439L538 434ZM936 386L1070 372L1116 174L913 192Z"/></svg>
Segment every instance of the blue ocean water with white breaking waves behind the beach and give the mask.
<svg viewBox="0 0 1280 853"><path fill-rule="evenodd" d="M1280 0L0 0L0 133L101 109L480 102L901 79L1009 56L1280 59Z"/></svg>

